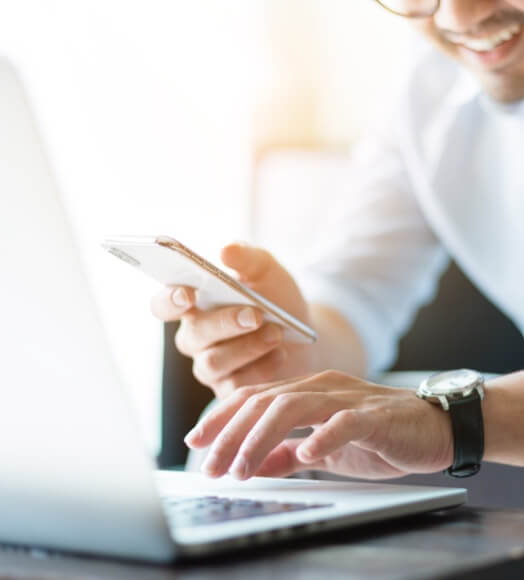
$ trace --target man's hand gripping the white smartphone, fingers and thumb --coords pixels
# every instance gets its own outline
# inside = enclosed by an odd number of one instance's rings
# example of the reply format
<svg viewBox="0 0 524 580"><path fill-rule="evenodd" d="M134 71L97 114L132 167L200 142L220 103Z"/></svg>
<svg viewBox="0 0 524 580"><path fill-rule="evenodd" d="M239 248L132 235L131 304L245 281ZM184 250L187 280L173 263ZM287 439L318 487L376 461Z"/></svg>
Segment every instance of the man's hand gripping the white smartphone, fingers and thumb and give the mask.
<svg viewBox="0 0 524 580"><path fill-rule="evenodd" d="M222 250L223 263L238 279L304 323L308 305L291 275L265 250L231 244ZM282 328L266 323L255 307L227 306L203 312L194 306L187 287L165 288L153 300L161 320L180 320L175 344L192 357L195 377L224 398L235 389L285 379L314 368L312 345L285 343Z"/></svg>

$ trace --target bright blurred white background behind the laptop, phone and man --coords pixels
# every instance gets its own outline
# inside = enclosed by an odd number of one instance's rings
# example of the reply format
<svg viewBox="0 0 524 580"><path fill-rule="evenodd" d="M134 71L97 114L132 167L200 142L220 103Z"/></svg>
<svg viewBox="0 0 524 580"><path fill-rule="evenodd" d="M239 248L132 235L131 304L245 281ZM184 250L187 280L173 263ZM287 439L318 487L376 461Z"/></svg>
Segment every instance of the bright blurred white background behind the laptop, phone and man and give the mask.
<svg viewBox="0 0 524 580"><path fill-rule="evenodd" d="M26 84L153 449L157 287L100 240L164 233L214 259L251 239L293 268L402 64L408 33L382 12L371 0L0 0L0 55Z"/></svg>

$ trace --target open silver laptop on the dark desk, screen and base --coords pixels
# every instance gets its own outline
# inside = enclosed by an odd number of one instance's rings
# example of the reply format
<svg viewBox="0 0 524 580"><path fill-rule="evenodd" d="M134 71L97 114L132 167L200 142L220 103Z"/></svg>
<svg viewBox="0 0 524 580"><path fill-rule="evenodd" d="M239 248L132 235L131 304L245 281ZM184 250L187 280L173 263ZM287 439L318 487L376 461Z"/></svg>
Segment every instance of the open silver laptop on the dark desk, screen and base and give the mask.
<svg viewBox="0 0 524 580"><path fill-rule="evenodd" d="M164 562L465 501L462 489L156 472L3 61L0 258L0 542Z"/></svg>

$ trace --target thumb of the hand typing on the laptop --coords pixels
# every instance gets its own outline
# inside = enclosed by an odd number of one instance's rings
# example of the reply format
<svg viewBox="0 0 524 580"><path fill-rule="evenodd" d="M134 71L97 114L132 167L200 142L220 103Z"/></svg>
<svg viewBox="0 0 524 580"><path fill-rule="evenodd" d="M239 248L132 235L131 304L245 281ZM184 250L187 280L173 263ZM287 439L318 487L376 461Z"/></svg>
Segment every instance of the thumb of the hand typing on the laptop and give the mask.
<svg viewBox="0 0 524 580"><path fill-rule="evenodd" d="M362 442L372 437L377 428L372 412L343 409L335 413L297 449L304 463L315 463L350 442Z"/></svg>

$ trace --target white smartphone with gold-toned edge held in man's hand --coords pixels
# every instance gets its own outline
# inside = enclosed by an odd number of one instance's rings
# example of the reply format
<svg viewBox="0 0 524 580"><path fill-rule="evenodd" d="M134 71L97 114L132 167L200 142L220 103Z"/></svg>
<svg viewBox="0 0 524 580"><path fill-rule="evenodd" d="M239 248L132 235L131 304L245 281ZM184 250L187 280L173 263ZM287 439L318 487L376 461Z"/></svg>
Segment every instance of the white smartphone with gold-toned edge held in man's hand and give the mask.
<svg viewBox="0 0 524 580"><path fill-rule="evenodd" d="M195 288L201 310L247 304L260 309L267 321L280 324L285 340L312 343L317 339L312 328L173 238L118 236L107 238L102 246L166 286Z"/></svg>

